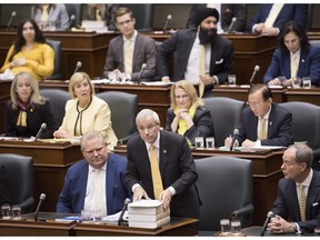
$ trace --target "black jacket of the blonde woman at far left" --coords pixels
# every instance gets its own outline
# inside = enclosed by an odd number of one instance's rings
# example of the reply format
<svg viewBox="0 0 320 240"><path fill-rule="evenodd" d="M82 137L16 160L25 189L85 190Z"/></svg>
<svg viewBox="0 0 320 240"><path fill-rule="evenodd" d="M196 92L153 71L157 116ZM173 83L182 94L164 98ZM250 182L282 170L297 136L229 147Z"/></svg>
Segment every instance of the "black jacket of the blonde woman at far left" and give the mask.
<svg viewBox="0 0 320 240"><path fill-rule="evenodd" d="M47 123L46 130L42 132L41 137L53 138L53 132L57 130L56 121L51 112L50 102L46 101L44 104L33 104L32 108L28 110L27 113L27 127L17 126L18 116L21 108L13 109L11 107L11 101L6 104L6 126L4 132L9 137L23 137L30 138L36 137L42 122Z"/></svg>

